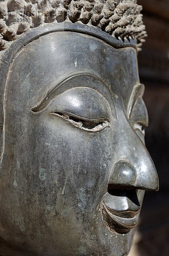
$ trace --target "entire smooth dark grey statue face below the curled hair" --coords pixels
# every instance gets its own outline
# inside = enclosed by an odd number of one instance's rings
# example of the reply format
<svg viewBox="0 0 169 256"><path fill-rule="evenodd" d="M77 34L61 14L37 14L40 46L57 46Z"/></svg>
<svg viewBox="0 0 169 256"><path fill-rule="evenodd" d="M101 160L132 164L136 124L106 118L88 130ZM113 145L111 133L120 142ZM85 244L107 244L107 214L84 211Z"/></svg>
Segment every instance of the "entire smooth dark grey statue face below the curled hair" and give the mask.
<svg viewBox="0 0 169 256"><path fill-rule="evenodd" d="M54 32L18 53L0 171L7 256L127 255L144 190L158 189L143 90L130 47Z"/></svg>

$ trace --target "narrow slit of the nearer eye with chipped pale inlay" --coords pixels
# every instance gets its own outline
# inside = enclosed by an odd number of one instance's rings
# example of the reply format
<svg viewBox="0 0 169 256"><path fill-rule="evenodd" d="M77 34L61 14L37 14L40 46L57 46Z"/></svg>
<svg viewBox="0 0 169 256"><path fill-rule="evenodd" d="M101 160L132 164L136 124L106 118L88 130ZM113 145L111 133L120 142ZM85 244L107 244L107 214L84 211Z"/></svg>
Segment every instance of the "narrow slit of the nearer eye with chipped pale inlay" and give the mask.
<svg viewBox="0 0 169 256"><path fill-rule="evenodd" d="M84 131L96 132L101 131L107 126L110 126L110 120L108 118L87 119L85 117L76 116L71 113L51 112L50 114L60 116L66 121L70 122L76 128L80 128Z"/></svg>

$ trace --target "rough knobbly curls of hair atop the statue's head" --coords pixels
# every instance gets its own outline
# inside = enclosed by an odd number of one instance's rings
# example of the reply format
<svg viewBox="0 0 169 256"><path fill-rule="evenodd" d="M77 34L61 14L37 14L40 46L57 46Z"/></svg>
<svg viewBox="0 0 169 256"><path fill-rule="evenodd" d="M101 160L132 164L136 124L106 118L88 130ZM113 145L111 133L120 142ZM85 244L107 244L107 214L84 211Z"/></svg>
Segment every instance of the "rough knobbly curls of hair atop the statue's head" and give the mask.
<svg viewBox="0 0 169 256"><path fill-rule="evenodd" d="M95 26L116 40L135 39L139 50L146 31L137 0L0 0L0 51L28 29L69 21Z"/></svg>

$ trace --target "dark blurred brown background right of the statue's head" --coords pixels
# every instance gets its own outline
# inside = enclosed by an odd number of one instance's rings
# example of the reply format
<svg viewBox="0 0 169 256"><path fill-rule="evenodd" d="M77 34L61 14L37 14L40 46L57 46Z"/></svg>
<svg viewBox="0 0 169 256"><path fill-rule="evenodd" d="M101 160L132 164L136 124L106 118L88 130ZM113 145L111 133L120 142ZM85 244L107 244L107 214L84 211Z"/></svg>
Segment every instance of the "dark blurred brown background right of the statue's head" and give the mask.
<svg viewBox="0 0 169 256"><path fill-rule="evenodd" d="M131 256L169 256L169 0L138 0L148 37L138 54L149 113L146 147L160 189L146 192Z"/></svg>

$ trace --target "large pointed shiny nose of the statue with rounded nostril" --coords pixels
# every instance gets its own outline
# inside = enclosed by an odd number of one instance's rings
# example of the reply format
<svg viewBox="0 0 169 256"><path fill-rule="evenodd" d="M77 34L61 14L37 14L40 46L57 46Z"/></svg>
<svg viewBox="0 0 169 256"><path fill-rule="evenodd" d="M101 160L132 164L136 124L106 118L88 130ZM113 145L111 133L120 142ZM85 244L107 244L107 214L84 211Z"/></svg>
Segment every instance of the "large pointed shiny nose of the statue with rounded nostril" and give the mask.
<svg viewBox="0 0 169 256"><path fill-rule="evenodd" d="M158 175L144 143L130 126L122 131L109 185L158 190Z"/></svg>

